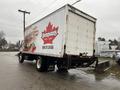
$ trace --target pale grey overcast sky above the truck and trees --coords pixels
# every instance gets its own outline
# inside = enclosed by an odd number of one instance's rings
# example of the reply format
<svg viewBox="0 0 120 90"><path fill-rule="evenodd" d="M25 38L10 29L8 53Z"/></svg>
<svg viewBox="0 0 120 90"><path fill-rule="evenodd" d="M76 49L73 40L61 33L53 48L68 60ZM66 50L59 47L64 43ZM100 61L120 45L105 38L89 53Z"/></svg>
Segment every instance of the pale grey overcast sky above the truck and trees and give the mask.
<svg viewBox="0 0 120 90"><path fill-rule="evenodd" d="M0 30L5 32L8 41L16 42L23 38L23 14L18 9L31 12L26 15L26 25L30 25L64 4L75 1L0 0ZM97 18L97 37L120 37L120 0L82 0L74 6Z"/></svg>

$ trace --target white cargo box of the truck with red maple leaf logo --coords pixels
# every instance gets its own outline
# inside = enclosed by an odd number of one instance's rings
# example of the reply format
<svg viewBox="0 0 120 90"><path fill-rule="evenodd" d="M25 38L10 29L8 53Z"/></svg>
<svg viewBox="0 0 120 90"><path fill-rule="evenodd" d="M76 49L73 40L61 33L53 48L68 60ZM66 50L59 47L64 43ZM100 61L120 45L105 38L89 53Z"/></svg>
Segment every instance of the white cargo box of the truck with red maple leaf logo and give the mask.
<svg viewBox="0 0 120 90"><path fill-rule="evenodd" d="M53 57L80 53L92 56L95 23L92 16L65 5L26 28L22 51Z"/></svg>

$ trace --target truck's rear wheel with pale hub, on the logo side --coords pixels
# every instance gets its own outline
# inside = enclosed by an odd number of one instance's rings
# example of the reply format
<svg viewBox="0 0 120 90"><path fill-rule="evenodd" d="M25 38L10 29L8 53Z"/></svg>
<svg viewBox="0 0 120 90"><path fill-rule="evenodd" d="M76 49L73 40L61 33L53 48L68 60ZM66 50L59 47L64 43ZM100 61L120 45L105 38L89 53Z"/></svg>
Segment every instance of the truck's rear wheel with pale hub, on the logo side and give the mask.
<svg viewBox="0 0 120 90"><path fill-rule="evenodd" d="M36 69L39 72L45 72L48 70L48 65L42 57L38 57L36 60Z"/></svg>

